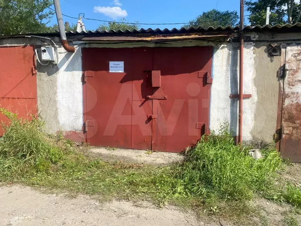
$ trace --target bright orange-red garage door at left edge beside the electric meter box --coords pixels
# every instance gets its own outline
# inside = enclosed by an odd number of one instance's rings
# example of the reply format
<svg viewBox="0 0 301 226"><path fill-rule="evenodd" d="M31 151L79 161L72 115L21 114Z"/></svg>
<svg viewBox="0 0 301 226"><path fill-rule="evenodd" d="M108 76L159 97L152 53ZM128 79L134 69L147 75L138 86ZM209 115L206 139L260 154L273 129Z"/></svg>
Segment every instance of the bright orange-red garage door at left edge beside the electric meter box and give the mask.
<svg viewBox="0 0 301 226"><path fill-rule="evenodd" d="M37 113L36 74L34 74L34 47L15 46L0 48L0 107L20 117ZM0 121L7 121L0 115ZM0 136L3 134L0 126Z"/></svg>

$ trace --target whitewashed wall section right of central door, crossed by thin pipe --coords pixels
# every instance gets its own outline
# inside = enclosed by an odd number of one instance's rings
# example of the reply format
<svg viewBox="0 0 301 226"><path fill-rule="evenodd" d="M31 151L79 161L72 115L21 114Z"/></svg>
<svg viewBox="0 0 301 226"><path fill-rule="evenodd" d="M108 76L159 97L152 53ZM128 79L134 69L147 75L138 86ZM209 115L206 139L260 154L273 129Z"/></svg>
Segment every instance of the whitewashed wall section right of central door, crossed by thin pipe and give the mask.
<svg viewBox="0 0 301 226"><path fill-rule="evenodd" d="M221 124L229 123L232 134L238 135L238 99L230 99L230 94L238 94L239 50L238 43L216 46L213 50L213 84L210 103L210 129L218 131ZM243 140L252 140L257 93L253 79L255 67L254 44L244 45L244 94L252 98L243 100Z"/></svg>

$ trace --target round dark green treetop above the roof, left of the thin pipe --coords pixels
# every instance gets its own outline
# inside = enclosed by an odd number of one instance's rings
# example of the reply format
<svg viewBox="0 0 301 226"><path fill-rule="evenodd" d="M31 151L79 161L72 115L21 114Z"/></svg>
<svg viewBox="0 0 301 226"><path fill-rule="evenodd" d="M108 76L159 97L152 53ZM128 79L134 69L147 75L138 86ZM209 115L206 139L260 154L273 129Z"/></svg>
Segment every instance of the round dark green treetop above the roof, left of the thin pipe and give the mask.
<svg viewBox="0 0 301 226"><path fill-rule="evenodd" d="M201 15L197 16L195 19L190 20L189 24L185 24L185 27L190 26L202 26L208 28L213 27L226 27L228 25L236 26L239 20L237 11L219 11L219 10L209 10L203 12Z"/></svg>

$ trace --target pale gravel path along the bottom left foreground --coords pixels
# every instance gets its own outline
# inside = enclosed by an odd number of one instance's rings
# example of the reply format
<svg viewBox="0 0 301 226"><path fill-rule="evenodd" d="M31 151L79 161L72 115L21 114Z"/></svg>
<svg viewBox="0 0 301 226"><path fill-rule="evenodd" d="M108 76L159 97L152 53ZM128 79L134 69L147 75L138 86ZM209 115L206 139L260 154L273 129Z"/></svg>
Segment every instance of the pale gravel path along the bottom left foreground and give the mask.
<svg viewBox="0 0 301 226"><path fill-rule="evenodd" d="M194 216L168 206L113 201L98 203L88 196L68 199L30 187L0 187L0 225L203 225Z"/></svg>

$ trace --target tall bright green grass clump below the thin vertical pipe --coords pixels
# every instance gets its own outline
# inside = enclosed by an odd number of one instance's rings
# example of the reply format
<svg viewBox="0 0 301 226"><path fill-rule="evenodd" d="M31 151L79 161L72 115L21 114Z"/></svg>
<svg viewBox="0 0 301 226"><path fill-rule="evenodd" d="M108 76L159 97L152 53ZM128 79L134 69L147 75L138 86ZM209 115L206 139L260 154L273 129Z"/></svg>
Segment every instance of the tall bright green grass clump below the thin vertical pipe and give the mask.
<svg viewBox="0 0 301 226"><path fill-rule="evenodd" d="M270 189L278 178L276 171L284 169L279 153L263 150L263 158L255 160L249 150L234 144L227 125L218 135L203 136L179 167L185 190L193 196L250 200L255 192Z"/></svg>

